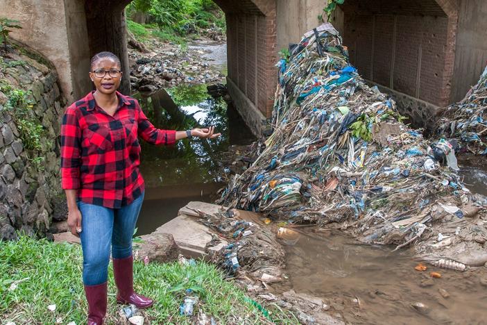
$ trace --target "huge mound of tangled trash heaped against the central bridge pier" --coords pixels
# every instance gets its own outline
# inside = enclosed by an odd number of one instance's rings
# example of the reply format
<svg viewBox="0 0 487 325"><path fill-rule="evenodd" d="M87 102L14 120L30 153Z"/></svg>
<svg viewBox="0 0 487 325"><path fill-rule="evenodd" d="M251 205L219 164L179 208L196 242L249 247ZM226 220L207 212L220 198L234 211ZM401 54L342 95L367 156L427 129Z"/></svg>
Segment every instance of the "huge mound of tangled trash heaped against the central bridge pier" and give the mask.
<svg viewBox="0 0 487 325"><path fill-rule="evenodd" d="M454 170L454 144L430 146L405 126L395 102L350 65L331 24L305 33L277 67L273 134L219 204L291 224L339 223L362 242L398 248L485 207Z"/></svg>

